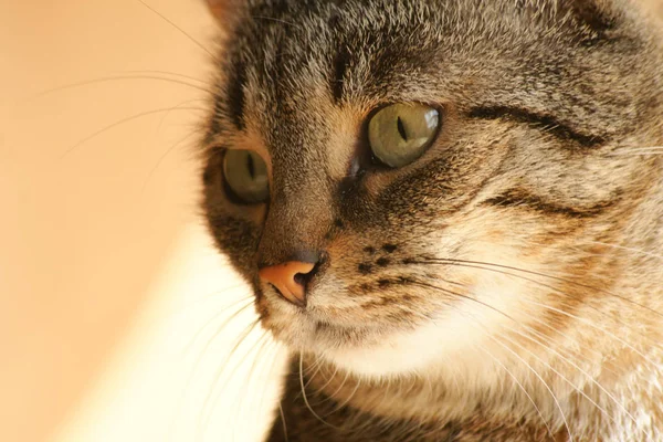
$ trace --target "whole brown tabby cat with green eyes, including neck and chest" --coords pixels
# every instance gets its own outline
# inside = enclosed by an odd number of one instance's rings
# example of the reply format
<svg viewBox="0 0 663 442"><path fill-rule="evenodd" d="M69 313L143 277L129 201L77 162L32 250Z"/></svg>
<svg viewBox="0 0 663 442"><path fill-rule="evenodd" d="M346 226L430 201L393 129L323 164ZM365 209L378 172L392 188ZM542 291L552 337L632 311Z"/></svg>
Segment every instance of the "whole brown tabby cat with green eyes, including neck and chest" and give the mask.
<svg viewBox="0 0 663 442"><path fill-rule="evenodd" d="M217 0L202 207L269 441L663 440L663 38L627 0Z"/></svg>

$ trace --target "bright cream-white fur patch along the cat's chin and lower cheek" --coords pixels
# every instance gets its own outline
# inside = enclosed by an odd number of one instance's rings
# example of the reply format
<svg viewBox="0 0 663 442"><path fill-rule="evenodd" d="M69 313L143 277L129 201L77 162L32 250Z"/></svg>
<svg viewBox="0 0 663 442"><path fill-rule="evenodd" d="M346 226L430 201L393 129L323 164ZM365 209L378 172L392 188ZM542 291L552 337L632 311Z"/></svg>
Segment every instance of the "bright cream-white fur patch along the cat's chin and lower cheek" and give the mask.
<svg viewBox="0 0 663 442"><path fill-rule="evenodd" d="M473 368L484 371L493 365L484 349L488 348L492 355L503 350L493 336L515 328L506 315L514 318L513 312L519 312L520 317L514 319L526 322L532 314L530 305L522 301L527 296L524 291L520 282L493 275L475 285L478 303L457 299L453 309L414 330L386 336L381 345L325 351L325 357L345 370L370 378L431 370L455 375Z"/></svg>

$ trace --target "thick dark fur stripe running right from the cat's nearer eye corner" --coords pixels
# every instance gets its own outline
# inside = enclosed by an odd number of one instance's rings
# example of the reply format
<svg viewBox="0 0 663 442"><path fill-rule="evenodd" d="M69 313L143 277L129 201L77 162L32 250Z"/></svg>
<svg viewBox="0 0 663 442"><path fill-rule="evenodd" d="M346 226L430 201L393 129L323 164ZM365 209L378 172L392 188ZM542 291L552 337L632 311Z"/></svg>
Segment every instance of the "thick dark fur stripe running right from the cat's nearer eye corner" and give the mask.
<svg viewBox="0 0 663 442"><path fill-rule="evenodd" d="M561 140L576 141L582 147L597 147L606 143L606 138L602 136L582 134L550 115L540 115L518 107L475 107L470 110L469 116L470 118L478 119L507 119L525 123L536 129L544 130L546 134L551 134Z"/></svg>

